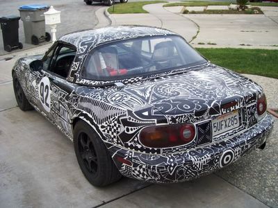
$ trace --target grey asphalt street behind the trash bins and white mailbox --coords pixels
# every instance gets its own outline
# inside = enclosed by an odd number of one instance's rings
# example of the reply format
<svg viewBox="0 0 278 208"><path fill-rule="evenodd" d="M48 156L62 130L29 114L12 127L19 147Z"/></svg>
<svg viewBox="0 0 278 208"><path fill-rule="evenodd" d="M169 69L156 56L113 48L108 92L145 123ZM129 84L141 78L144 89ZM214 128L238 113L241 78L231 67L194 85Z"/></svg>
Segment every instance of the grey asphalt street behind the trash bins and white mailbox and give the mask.
<svg viewBox="0 0 278 208"><path fill-rule="evenodd" d="M56 10L61 12L61 24L57 26L57 38L73 31L94 28L98 22L95 11L104 6L103 3L93 3L92 6L87 6L82 0L0 0L0 17L8 15L19 16L18 8L20 6L33 3L54 6ZM50 33L50 28L48 26L46 31ZM22 42L24 49L35 47L32 44L25 43L22 20L19 20L19 42ZM47 42L42 42L40 45L46 43ZM17 49L16 51L19 50ZM4 54L8 54L8 52L3 50L3 37L0 35L0 55Z"/></svg>

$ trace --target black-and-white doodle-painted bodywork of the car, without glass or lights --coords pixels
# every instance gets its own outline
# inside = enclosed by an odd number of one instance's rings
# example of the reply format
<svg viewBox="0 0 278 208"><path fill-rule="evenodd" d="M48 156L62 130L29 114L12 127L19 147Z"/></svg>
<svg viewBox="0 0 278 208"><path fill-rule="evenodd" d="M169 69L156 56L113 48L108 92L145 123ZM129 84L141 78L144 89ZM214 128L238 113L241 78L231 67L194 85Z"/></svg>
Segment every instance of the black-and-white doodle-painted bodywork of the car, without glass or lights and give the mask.
<svg viewBox="0 0 278 208"><path fill-rule="evenodd" d="M50 111L44 112L38 100L44 73L31 71L29 67L33 60L42 57L21 58L13 71L28 101L67 137L73 139L72 125L76 118L90 123L126 177L148 182L191 180L236 161L265 142L273 119L265 114L259 121L256 116L256 102L263 94L261 87L209 62L117 80L126 84L123 89L111 85L113 81L81 78L86 55L99 44L154 35L174 33L161 28L115 26L61 37L59 41L76 46L77 54L70 76L59 80L68 88L49 83ZM236 105L224 107L231 102ZM239 112L240 127L212 137L211 119L234 110ZM142 128L176 123L194 123L196 139L170 148L149 148L140 143L138 135ZM131 161L132 165L120 164L116 155Z"/></svg>

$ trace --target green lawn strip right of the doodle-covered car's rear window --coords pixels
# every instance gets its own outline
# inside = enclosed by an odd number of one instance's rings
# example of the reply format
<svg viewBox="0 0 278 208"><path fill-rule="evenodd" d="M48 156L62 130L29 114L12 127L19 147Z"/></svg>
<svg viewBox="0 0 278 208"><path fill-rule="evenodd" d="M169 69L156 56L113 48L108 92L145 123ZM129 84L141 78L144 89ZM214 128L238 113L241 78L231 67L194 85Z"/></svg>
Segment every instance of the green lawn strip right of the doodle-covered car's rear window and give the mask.
<svg viewBox="0 0 278 208"><path fill-rule="evenodd" d="M197 49L213 64L239 73L278 78L278 50Z"/></svg>

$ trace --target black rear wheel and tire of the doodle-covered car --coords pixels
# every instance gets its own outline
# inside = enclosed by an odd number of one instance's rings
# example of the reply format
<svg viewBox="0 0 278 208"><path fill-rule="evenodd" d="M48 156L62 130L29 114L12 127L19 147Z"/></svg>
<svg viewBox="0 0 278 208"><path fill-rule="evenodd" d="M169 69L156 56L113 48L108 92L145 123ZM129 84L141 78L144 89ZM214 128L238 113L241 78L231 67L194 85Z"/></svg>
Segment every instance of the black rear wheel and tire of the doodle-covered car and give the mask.
<svg viewBox="0 0 278 208"><path fill-rule="evenodd" d="M74 126L74 151L81 171L92 185L104 187L122 177L104 142L85 121Z"/></svg>

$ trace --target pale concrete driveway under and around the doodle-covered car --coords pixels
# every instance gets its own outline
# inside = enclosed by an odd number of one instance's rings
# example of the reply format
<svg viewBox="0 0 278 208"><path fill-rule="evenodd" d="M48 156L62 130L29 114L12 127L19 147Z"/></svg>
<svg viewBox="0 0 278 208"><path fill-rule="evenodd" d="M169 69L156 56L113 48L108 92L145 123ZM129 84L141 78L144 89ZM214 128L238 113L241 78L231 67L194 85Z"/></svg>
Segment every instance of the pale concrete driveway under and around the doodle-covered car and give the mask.
<svg viewBox="0 0 278 208"><path fill-rule="evenodd" d="M47 47L0 61L0 207L278 206L277 121L265 150L255 150L216 174L180 184L123 178L105 188L92 187L81 173L71 141L38 112L16 107L10 76L15 60ZM270 81L278 86L276 79L254 78L263 86Z"/></svg>

